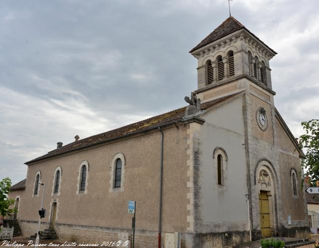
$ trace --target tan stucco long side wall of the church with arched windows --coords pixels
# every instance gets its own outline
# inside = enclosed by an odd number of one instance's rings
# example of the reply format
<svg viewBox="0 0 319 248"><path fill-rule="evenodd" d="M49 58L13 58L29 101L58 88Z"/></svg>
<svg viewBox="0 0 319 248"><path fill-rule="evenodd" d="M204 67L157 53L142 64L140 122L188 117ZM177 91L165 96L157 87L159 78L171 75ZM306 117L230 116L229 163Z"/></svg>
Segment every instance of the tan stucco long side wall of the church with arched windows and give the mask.
<svg viewBox="0 0 319 248"><path fill-rule="evenodd" d="M186 228L186 126L164 130L163 161L163 231L184 231ZM110 163L117 152L125 156L124 191L109 192ZM81 161L89 163L87 194L76 194ZM62 169L60 195L51 196L54 171ZM33 196L36 172L46 183L44 208L49 222L52 201L57 202L56 223L82 226L131 229L129 200L137 201L137 230L158 230L160 132L138 136L28 166L27 186L21 201L19 218L37 221L39 196ZM10 193L10 197L13 194ZM33 197L32 197L33 196Z"/></svg>

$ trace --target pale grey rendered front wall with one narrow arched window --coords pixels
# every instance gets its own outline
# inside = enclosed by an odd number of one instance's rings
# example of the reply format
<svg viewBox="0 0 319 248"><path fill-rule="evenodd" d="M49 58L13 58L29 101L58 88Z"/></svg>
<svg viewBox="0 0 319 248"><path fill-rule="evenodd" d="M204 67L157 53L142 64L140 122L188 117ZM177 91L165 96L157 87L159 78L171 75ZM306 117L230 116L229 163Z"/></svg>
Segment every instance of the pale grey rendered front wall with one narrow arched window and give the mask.
<svg viewBox="0 0 319 248"><path fill-rule="evenodd" d="M201 227L199 232L248 230L245 194L246 160L242 97L204 115L201 136ZM213 151L222 147L228 160L224 164L224 183L218 185Z"/></svg>

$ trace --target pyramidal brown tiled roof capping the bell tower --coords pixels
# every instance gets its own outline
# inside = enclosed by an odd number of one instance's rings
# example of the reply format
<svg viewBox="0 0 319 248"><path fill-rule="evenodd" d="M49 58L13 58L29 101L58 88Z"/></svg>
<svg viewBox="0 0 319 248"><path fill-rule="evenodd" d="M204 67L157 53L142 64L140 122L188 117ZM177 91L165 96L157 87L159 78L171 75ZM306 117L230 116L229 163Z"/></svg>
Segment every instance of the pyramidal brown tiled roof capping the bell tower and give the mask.
<svg viewBox="0 0 319 248"><path fill-rule="evenodd" d="M267 46L263 41L261 41L255 34L249 31L243 24L241 24L238 20L236 20L233 16L229 16L223 23L221 23L214 31L212 31L208 36L203 39L197 46L191 49L189 52L193 52L198 48L201 48L215 40L218 40L222 37L225 37L228 34L236 32L240 29L247 30L250 34L252 34L256 39L258 39L261 43L263 43L267 48L269 48L272 52L277 54L273 49Z"/></svg>

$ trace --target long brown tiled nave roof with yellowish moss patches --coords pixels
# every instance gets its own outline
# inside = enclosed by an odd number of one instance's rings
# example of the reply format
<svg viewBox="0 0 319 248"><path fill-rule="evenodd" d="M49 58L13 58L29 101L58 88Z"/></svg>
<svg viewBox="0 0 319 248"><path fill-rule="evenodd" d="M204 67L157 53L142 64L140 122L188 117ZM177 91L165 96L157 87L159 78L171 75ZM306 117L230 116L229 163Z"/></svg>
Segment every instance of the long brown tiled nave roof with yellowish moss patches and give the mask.
<svg viewBox="0 0 319 248"><path fill-rule="evenodd" d="M210 108L210 107L212 107L218 103L221 103L221 102L223 102L223 101L225 101L233 96L234 95L226 96L223 98L219 98L219 99L204 103L201 105L201 109L205 110L207 108ZM41 160L44 158L52 157L52 156L55 156L58 154L77 150L77 149L84 148L84 147L91 146L91 145L95 145L98 143L103 143L103 142L106 142L106 141L111 140L111 139L120 138L122 136L134 134L134 133L137 133L140 131L146 131L146 130L149 130L152 128L159 127L161 125L173 123L174 121L176 122L184 117L185 110L186 110L186 107L183 107L183 108L180 108L177 110L167 112L165 114L161 114L159 116L155 116L155 117L146 119L144 121L125 125L125 126L122 126L120 128L117 128L117 129L113 129L113 130L103 132L100 134L96 134L96 135L93 135L93 136L90 136L87 138L76 140L72 143L69 143L67 145L62 146L61 148L50 151L43 156L40 156L40 157L32 159L28 162L25 162L25 164L29 164L29 163L32 163L32 162L35 162L35 161L38 161L38 160Z"/></svg>

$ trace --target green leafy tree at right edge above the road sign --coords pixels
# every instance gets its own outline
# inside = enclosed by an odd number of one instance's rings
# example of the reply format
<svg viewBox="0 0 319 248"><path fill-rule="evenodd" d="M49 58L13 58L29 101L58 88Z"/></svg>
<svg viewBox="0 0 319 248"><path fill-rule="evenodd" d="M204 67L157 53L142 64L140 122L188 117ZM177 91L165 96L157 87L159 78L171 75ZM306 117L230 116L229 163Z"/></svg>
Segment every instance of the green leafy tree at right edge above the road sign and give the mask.
<svg viewBox="0 0 319 248"><path fill-rule="evenodd" d="M319 120L302 122L301 125L306 130L306 134L299 138L299 145L306 150L302 166L306 169L305 175L310 176L309 182L316 186L319 180Z"/></svg>

